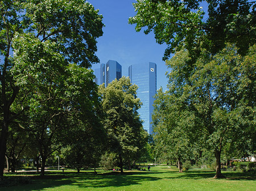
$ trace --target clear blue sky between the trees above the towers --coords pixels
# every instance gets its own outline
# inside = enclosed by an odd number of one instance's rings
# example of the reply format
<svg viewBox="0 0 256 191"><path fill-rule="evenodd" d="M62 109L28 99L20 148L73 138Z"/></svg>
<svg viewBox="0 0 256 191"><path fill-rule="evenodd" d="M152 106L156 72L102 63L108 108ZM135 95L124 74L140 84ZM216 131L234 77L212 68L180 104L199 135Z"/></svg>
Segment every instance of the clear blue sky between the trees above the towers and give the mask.
<svg viewBox="0 0 256 191"><path fill-rule="evenodd" d="M135 0L88 0L103 16L103 36L98 38L96 55L100 63L115 60L122 65L122 75L128 76L128 67L135 63L155 62L157 66L157 89L166 90L168 82L165 62L162 61L167 45L156 43L154 34L136 32L135 25L128 24L135 15ZM97 67L97 66L93 66ZM99 66L100 67L100 66Z"/></svg>

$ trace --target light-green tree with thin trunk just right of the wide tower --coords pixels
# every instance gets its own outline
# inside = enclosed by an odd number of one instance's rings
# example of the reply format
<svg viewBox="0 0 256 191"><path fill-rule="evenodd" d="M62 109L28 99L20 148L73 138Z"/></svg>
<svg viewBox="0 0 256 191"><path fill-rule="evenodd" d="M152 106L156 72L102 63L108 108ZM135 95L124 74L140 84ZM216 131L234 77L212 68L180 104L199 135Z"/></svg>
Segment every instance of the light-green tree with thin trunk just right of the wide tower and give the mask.
<svg viewBox="0 0 256 191"><path fill-rule="evenodd" d="M181 86L179 87L180 89L175 91L178 95L182 92ZM179 100L176 100L178 95L172 94L171 88L168 92L163 92L160 88L156 94L152 119L157 155L176 160L179 172L183 172L183 163L192 158L199 139L193 136L191 130L194 115L185 107L184 97L180 96Z"/></svg>

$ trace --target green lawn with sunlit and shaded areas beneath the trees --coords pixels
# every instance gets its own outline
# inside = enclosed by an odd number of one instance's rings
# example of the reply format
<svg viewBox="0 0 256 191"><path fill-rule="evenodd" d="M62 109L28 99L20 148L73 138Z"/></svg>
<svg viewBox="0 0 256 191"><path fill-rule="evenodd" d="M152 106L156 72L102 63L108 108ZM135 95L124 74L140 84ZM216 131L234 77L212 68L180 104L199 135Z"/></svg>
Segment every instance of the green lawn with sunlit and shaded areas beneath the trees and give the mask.
<svg viewBox="0 0 256 191"><path fill-rule="evenodd" d="M191 170L177 172L175 167L151 167L151 171L118 172L75 171L46 172L45 177L31 176L30 184L1 186L0 190L256 190L255 172L223 172L226 179L213 179L213 171ZM9 175L5 175L6 177ZM12 175L14 176L14 175Z"/></svg>

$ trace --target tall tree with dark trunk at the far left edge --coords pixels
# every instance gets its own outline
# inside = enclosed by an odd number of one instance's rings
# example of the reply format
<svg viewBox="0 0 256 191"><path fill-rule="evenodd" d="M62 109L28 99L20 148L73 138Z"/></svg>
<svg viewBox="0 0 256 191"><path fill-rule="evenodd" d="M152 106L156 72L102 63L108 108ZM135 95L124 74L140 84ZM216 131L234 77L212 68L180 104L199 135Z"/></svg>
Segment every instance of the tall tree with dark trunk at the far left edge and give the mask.
<svg viewBox="0 0 256 191"><path fill-rule="evenodd" d="M13 73L12 68L21 59L16 56L14 61L13 58L9 57L10 50L13 48L14 39L22 40L23 35L27 38L27 35L24 33L30 33L30 36L33 36L30 44L31 49L34 46L32 42L36 42L36 46L38 45L38 41L46 44L53 43L56 46L54 51L51 52L51 58L55 54L59 54L66 63L71 62L80 66L89 67L91 63L98 62L98 58L95 56L97 50L96 38L102 36L103 24L102 16L98 15L98 11L94 10L94 7L84 0L1 1L0 15L0 46L1 54L5 57L4 63L1 65L0 75L0 177L2 179L9 124L28 108L27 105L26 107L21 105L23 107L20 108L19 113L11 111L11 105L14 103L18 94L20 94L20 84L26 84L25 81L30 78L26 76L26 72L30 67L26 67L26 71L21 70L19 74L19 77L23 75L23 82L16 82L15 80L17 78L14 74L18 74ZM19 48L16 46L15 51ZM43 57L43 52L35 49L34 51L33 53L30 52L32 57L40 60L40 57ZM20 55L22 56L24 54ZM52 64L56 60L47 61L47 64ZM19 79L21 80L21 78ZM30 92L30 94L25 94L24 96L29 96L33 93Z"/></svg>

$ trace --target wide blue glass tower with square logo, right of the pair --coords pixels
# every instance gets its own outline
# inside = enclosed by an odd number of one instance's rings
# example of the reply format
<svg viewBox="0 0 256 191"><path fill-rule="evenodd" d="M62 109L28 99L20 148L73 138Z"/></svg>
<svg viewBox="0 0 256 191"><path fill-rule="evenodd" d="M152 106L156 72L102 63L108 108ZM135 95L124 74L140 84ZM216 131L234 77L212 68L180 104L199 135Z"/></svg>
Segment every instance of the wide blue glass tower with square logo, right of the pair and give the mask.
<svg viewBox="0 0 256 191"><path fill-rule="evenodd" d="M129 66L131 83L137 84L137 96L143 105L138 110L143 122L143 128L152 134L152 112L154 110L154 96L156 94L156 64L153 62L135 64Z"/></svg>

